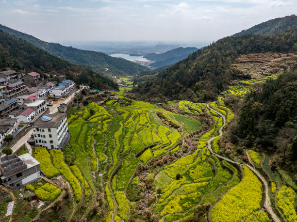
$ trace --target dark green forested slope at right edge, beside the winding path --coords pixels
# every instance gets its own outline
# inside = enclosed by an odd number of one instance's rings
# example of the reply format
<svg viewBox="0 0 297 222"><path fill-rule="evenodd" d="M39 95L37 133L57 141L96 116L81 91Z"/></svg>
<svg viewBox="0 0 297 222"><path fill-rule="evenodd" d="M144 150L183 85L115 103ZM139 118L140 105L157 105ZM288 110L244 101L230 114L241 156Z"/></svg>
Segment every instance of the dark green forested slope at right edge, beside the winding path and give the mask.
<svg viewBox="0 0 297 222"><path fill-rule="evenodd" d="M232 143L276 153L278 164L297 170L297 65L278 79L255 87L245 98ZM273 165L276 167L276 163Z"/></svg>

